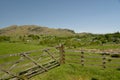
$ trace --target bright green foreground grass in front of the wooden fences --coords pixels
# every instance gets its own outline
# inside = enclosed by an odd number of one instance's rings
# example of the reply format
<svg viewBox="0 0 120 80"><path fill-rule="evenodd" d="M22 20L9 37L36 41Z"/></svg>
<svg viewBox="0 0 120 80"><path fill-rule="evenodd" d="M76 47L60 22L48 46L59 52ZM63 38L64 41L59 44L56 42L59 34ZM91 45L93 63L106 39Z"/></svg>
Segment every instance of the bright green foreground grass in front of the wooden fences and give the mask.
<svg viewBox="0 0 120 80"><path fill-rule="evenodd" d="M64 64L31 80L119 80L120 71L82 67L78 64Z"/></svg>

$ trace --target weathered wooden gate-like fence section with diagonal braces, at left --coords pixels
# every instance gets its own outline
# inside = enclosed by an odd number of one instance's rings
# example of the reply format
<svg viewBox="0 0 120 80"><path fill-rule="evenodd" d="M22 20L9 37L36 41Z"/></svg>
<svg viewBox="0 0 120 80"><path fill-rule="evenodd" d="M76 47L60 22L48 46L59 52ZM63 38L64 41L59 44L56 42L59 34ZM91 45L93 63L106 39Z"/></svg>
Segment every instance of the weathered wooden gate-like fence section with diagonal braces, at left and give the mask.
<svg viewBox="0 0 120 80"><path fill-rule="evenodd" d="M26 80L60 66L63 46L0 56L0 80Z"/></svg>

